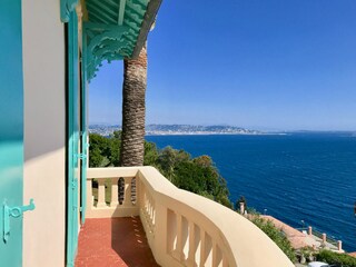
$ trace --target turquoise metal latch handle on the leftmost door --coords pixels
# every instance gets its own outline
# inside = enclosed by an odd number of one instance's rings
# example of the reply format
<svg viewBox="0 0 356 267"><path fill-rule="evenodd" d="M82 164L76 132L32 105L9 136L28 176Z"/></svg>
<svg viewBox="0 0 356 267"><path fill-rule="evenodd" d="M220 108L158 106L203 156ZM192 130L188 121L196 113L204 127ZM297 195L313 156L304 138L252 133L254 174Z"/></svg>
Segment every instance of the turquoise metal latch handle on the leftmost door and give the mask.
<svg viewBox="0 0 356 267"><path fill-rule="evenodd" d="M7 205L7 201L3 201L3 240L7 243L10 237L10 217L18 218L22 216L24 211L33 210L34 209L34 202L33 199L30 199L30 204L26 206L20 207L9 207Z"/></svg>

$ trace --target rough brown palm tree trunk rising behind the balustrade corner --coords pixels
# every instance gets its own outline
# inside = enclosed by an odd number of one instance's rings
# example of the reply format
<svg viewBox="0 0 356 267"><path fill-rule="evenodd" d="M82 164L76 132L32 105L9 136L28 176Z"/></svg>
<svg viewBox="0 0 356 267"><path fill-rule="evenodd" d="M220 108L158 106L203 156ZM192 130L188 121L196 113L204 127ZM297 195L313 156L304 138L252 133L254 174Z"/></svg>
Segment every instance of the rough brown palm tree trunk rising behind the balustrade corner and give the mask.
<svg viewBox="0 0 356 267"><path fill-rule="evenodd" d="M146 87L147 50L145 46L137 59L125 60L120 166L144 165Z"/></svg>

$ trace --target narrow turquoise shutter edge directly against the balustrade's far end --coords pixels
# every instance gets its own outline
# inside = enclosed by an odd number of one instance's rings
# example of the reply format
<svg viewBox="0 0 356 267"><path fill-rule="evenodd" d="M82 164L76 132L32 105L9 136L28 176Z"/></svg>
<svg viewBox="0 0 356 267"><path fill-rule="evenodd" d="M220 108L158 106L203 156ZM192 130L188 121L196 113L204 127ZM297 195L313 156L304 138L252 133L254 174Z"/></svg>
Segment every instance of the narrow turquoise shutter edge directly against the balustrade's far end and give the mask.
<svg viewBox="0 0 356 267"><path fill-rule="evenodd" d="M82 31L82 51L81 51L81 149L83 159L81 161L81 224L86 221L86 211L87 211L87 162L88 162L88 126L87 126L87 71L86 71L86 47L87 47L87 37L86 29Z"/></svg>

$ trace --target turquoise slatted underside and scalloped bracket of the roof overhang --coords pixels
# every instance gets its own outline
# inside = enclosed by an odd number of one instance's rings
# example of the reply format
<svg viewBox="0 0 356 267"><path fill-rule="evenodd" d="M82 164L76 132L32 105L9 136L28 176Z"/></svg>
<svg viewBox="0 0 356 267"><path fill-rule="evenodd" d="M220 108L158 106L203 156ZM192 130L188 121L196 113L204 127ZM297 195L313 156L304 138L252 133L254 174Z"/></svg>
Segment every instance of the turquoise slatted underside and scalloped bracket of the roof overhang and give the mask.
<svg viewBox="0 0 356 267"><path fill-rule="evenodd" d="M102 61L110 62L132 57L148 3L148 0L86 1L89 17L86 23L88 31L86 69L89 80L96 76Z"/></svg>

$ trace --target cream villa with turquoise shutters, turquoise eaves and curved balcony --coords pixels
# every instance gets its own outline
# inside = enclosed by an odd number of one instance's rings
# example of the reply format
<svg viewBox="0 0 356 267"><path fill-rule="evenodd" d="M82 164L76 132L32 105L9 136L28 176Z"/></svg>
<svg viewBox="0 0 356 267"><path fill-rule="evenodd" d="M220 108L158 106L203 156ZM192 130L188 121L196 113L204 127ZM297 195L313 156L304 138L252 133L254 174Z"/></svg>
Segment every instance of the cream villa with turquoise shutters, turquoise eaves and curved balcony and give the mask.
<svg viewBox="0 0 356 267"><path fill-rule="evenodd" d="M293 266L248 219L152 167L87 169L89 81L137 58L160 2L1 1L1 266Z"/></svg>

